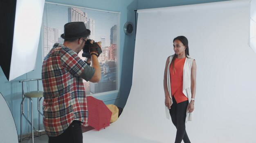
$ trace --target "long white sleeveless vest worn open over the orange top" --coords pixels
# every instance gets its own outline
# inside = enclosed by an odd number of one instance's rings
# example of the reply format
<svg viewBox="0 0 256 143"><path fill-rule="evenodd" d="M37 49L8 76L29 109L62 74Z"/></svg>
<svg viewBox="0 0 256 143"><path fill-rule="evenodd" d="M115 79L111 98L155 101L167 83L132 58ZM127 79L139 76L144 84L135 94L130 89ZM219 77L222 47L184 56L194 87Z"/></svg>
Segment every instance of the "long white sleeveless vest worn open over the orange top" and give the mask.
<svg viewBox="0 0 256 143"><path fill-rule="evenodd" d="M183 67L183 93L184 95L189 98L189 102L191 101L191 67L193 63L193 58L188 56L189 58L186 58L184 67ZM171 98L171 102L173 103L173 99L171 97L171 76L170 76L170 65L171 61L173 59L173 56L170 56L170 61L167 67L167 87L168 87L168 92ZM167 107L166 107L167 108ZM170 113L168 110L166 110L166 116L170 116ZM191 121L192 120L192 114L186 112L186 121Z"/></svg>

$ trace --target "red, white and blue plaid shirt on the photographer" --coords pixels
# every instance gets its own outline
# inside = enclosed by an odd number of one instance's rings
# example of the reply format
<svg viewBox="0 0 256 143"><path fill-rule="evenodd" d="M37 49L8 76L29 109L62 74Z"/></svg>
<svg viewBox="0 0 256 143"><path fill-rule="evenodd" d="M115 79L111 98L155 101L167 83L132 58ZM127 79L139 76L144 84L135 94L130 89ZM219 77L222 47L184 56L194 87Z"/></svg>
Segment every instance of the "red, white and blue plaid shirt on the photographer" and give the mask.
<svg viewBox="0 0 256 143"><path fill-rule="evenodd" d="M48 136L62 134L73 120L88 126L85 88L79 77L83 70L89 71L88 79L95 72L76 52L64 45L55 43L45 56L42 67L43 124Z"/></svg>

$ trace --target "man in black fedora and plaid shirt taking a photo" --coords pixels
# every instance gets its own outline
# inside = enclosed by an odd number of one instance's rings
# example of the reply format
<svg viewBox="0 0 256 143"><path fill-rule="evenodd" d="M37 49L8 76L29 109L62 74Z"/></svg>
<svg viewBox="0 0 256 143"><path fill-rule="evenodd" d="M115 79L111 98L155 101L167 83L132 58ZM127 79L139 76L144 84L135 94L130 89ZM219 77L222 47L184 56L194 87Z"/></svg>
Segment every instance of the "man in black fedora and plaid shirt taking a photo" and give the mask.
<svg viewBox="0 0 256 143"><path fill-rule="evenodd" d="M78 56L89 35L83 22L65 24L64 43L55 43L43 61L43 124L49 143L83 143L81 125L88 126L83 79L101 79L101 42L90 41L91 66Z"/></svg>

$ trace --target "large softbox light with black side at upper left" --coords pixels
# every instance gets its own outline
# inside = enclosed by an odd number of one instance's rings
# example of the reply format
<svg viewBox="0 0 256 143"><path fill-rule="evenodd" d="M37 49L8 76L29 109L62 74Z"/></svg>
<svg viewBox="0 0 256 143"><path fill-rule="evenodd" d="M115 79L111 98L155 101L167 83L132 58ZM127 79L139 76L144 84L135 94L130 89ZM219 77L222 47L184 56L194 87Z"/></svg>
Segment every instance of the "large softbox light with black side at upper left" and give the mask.
<svg viewBox="0 0 256 143"><path fill-rule="evenodd" d="M45 0L1 0L0 65L13 80L34 70Z"/></svg>

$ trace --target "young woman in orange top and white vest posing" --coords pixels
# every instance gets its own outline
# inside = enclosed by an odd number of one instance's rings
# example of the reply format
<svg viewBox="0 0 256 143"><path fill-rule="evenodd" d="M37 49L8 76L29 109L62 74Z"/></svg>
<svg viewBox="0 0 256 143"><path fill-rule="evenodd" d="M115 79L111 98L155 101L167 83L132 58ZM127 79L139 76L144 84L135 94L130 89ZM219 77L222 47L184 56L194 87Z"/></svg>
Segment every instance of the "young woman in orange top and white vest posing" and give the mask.
<svg viewBox="0 0 256 143"><path fill-rule="evenodd" d="M184 36L173 39L175 54L166 60L164 69L165 106L177 129L175 143L190 143L185 123L194 111L196 64L189 56L189 42Z"/></svg>

